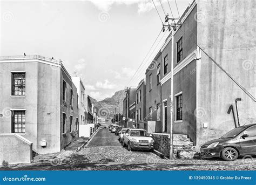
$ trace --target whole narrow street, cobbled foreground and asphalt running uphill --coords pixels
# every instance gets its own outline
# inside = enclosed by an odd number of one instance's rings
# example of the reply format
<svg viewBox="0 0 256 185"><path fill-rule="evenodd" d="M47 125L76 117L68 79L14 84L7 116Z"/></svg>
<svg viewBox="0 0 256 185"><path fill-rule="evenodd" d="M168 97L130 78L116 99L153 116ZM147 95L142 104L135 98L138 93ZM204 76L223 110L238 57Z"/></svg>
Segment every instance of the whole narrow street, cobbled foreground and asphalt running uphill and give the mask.
<svg viewBox="0 0 256 185"><path fill-rule="evenodd" d="M1 170L256 170L255 157L233 162L221 159L167 160L150 152L129 152L108 128L99 129L80 149L64 152L53 161L17 165Z"/></svg>

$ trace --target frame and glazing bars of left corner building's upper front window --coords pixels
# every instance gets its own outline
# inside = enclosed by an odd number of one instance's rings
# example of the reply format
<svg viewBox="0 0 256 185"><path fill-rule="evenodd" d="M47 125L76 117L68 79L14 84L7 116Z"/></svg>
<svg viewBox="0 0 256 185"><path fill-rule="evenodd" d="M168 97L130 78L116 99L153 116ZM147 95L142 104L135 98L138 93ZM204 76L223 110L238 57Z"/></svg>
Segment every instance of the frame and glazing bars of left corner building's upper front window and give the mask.
<svg viewBox="0 0 256 185"><path fill-rule="evenodd" d="M24 78L17 79L22 80L23 84L15 84L15 75L24 75ZM15 87L17 87L17 93L15 94ZM19 94L19 89L21 89L21 94ZM11 95L24 96L26 95L26 72L11 72Z"/></svg>

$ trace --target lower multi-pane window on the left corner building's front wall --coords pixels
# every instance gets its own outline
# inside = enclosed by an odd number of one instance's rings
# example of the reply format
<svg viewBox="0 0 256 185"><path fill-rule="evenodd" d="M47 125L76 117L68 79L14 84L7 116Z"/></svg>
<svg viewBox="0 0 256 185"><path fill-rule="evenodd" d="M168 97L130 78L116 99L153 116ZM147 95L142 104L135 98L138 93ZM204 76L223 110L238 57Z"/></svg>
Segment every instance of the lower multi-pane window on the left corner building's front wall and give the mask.
<svg viewBox="0 0 256 185"><path fill-rule="evenodd" d="M12 128L13 133L25 133L25 111L14 111Z"/></svg>

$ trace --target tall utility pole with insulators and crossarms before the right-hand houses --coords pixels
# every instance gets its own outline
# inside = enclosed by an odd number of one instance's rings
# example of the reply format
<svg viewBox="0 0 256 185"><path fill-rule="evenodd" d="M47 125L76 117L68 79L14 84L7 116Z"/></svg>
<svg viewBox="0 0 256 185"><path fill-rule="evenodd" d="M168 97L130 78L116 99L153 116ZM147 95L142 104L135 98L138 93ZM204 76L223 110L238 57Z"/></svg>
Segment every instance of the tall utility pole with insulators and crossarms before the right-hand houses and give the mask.
<svg viewBox="0 0 256 185"><path fill-rule="evenodd" d="M169 23L169 20L171 20L171 24ZM179 18L169 18L169 15L167 14L165 17L165 22L168 24L165 25L163 23L163 32L165 31L165 28L167 27L169 31L171 31L171 39L172 39L172 49L171 49L171 104L170 104L170 159L173 159L173 37L174 37L174 31L177 30L180 26L182 26L181 23L176 23L176 20L179 20Z"/></svg>

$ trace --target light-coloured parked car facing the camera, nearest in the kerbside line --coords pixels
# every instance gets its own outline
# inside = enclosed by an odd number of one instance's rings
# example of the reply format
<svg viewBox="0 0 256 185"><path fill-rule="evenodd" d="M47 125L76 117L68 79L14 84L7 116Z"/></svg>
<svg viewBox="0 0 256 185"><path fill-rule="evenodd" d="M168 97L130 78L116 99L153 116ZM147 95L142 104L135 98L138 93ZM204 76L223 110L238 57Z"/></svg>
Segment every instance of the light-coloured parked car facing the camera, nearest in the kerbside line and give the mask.
<svg viewBox="0 0 256 185"><path fill-rule="evenodd" d="M154 140L151 134L144 129L128 128L123 136L122 145L127 145L128 150L141 149L153 151Z"/></svg>

